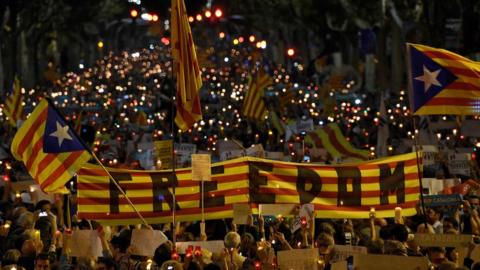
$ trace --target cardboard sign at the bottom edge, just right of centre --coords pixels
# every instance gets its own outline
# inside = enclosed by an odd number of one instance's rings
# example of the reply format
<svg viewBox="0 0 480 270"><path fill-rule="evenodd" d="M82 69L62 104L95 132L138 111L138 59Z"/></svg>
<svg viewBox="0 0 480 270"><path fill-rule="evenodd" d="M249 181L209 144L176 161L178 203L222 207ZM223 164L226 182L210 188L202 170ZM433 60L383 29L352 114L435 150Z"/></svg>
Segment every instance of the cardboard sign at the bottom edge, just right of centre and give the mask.
<svg viewBox="0 0 480 270"><path fill-rule="evenodd" d="M277 253L280 270L317 270L318 248L281 250Z"/></svg>

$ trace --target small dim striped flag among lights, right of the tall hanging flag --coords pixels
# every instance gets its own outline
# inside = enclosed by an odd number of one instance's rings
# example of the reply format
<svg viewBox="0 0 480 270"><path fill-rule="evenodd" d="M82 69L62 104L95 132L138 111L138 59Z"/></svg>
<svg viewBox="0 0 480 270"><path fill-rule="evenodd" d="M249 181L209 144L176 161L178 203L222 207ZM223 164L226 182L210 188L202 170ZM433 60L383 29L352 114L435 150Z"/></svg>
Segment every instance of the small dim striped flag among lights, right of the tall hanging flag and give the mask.
<svg viewBox="0 0 480 270"><path fill-rule="evenodd" d="M247 94L243 100L242 113L245 117L263 121L267 115L267 107L263 101L265 88L273 84L272 77L263 69L257 71L255 79L250 76Z"/></svg>

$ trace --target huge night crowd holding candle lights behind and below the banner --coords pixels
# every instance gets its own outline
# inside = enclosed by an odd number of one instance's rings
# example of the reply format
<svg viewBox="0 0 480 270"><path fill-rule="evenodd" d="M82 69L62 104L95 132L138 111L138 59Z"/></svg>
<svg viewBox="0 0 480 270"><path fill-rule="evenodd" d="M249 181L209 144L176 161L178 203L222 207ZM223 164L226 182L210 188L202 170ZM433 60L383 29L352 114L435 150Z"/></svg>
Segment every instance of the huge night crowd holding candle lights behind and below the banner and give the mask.
<svg viewBox="0 0 480 270"><path fill-rule="evenodd" d="M236 44L232 43L234 39ZM170 58L164 45L110 53L91 68L67 73L47 86L26 89L26 111L31 111L41 97L51 97L106 164L141 169L136 159L138 143L149 136L150 140L172 138L174 84ZM197 150L210 152L213 160L219 156L217 142L225 138L235 139L244 147L260 143L268 151L284 152L289 161L303 161L312 147L302 145L302 134L285 136L271 118L258 122L242 116L249 75L258 68L272 76L274 83L266 89L264 100L283 127L300 119L312 119L316 127L337 122L353 145L375 153L378 127L387 122L388 154L411 150L404 145L415 133L406 92L391 93L385 101L387 113L382 116L379 95L362 89L349 92L352 85L361 83L355 81L358 76L336 73L328 54L319 57L311 68L295 59L290 67L283 67L261 57L261 49L254 44L220 33L208 49L199 52L199 59L203 67L203 120L175 136L178 142L193 143ZM424 213L418 205L415 216L395 219L377 218L374 213L367 220L312 216L295 231L290 217L252 216L247 225L238 226L231 219L208 220L204 234L200 222L182 222L175 230L171 224L152 224L144 229L162 230L169 241L161 244L153 257L134 255L131 235L139 225L102 226L73 216L70 227L62 197L34 204L15 196L11 184L23 180L26 171L8 156L15 129L8 127L4 116L0 115L0 120L0 141L6 153L0 155L2 269L278 269L278 251L308 248L318 248L318 269L330 269L336 258L335 245L364 246L371 254L424 256L436 269L480 269L472 253L477 246L476 235L480 235L475 189L460 206L430 207ZM475 140L459 132L443 133L438 139L444 147L470 147L473 152ZM128 141L134 142L130 152ZM323 162L332 161L326 157ZM74 209L75 201L70 203ZM70 256L72 231L83 229L97 231L102 257ZM466 250L422 247L415 233L468 234L472 241ZM178 254L172 243L174 236L176 241L222 240L225 249Z"/></svg>

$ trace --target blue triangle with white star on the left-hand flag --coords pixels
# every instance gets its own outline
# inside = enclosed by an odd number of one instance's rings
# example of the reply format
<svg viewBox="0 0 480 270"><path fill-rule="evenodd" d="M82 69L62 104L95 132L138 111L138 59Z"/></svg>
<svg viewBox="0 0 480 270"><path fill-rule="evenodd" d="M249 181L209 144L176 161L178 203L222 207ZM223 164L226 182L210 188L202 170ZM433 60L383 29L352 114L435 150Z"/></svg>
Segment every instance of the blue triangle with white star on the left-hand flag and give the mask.
<svg viewBox="0 0 480 270"><path fill-rule="evenodd" d="M45 153L64 153L81 150L86 149L73 130L49 104L43 134L43 151Z"/></svg>

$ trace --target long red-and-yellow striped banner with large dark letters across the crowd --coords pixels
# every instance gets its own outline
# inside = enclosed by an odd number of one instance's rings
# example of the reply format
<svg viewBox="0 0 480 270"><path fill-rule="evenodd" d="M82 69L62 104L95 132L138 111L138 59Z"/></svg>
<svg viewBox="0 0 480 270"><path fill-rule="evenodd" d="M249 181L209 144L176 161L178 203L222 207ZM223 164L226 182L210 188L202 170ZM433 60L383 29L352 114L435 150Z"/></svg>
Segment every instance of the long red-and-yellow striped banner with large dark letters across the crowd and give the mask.
<svg viewBox="0 0 480 270"><path fill-rule="evenodd" d="M176 218L200 220L201 183L192 181L191 169L135 171L109 169L127 196L150 223L171 222L172 186ZM233 204L312 203L319 218L368 218L415 214L419 179L415 153L345 165L288 163L242 157L215 163L212 181L205 182L207 219L233 216ZM78 173L78 216L104 224L139 223L135 212L100 167L89 165Z"/></svg>

